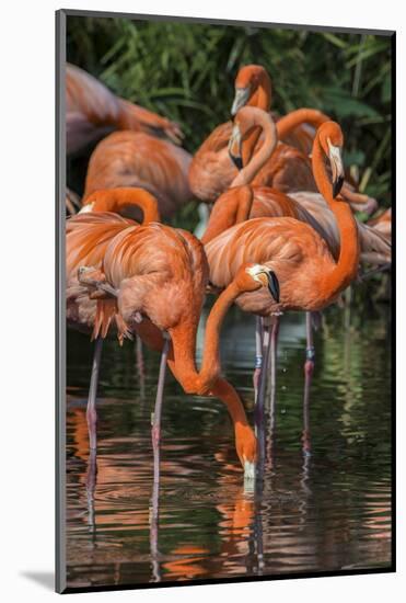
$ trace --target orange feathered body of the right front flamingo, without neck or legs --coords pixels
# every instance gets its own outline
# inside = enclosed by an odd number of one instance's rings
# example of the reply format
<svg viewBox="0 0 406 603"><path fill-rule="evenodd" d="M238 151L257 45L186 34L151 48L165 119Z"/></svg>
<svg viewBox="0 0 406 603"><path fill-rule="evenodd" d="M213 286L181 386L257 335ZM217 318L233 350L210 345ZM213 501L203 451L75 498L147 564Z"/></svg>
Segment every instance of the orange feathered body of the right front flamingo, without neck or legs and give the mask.
<svg viewBox="0 0 406 603"><path fill-rule="evenodd" d="M225 287L239 266L260 263L278 274L280 302L263 291L243 293L235 303L260 316L286 310L323 309L332 300L321 291L320 277L335 266L334 258L311 226L294 218L254 218L229 228L205 246L210 283ZM337 294L338 295L338 294Z"/></svg>

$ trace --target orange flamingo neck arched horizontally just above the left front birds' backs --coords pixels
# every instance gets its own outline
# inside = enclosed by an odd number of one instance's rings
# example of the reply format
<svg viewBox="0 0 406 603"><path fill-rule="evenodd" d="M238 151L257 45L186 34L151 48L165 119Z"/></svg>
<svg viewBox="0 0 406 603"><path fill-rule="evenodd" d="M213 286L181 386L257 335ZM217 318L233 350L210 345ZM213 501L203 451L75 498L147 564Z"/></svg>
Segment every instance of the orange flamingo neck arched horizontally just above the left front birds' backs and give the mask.
<svg viewBox="0 0 406 603"><path fill-rule="evenodd" d="M113 212L120 214L128 207L142 209L142 224L161 221L156 198L143 189L121 187L96 191L88 195L84 205L93 204L92 212Z"/></svg>

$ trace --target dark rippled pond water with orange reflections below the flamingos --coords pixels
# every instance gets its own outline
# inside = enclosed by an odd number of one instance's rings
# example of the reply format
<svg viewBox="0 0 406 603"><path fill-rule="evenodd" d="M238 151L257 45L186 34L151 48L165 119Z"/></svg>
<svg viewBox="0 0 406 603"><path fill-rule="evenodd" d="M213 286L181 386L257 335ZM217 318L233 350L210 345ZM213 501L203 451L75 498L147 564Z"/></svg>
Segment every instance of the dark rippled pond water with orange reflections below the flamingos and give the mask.
<svg viewBox="0 0 406 603"><path fill-rule="evenodd" d="M388 314L386 305L326 312L309 405L304 317L282 317L276 402L254 489L244 487L222 403L186 396L169 375L158 525L150 416L159 356L144 349L141 359L132 342L105 345L95 459L85 421L92 346L69 332L68 587L388 567ZM222 364L252 423L254 354L254 319L233 309Z"/></svg>

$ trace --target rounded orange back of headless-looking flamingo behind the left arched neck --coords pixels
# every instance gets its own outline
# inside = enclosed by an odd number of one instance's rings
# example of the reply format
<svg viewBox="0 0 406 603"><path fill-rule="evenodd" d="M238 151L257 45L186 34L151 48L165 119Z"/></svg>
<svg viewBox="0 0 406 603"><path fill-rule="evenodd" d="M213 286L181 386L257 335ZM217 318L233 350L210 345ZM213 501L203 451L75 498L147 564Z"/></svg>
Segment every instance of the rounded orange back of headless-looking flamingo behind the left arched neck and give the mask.
<svg viewBox="0 0 406 603"><path fill-rule="evenodd" d="M158 198L160 214L172 216L192 198L187 172L192 157L185 149L142 132L114 132L89 161L84 203L100 189L137 186Z"/></svg>

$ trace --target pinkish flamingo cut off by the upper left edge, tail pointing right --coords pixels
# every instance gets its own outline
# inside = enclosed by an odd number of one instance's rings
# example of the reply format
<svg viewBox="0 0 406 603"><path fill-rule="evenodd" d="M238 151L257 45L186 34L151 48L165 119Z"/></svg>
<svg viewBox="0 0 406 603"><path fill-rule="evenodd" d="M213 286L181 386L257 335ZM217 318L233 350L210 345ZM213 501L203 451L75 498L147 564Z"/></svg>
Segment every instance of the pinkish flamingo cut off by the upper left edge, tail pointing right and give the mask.
<svg viewBox="0 0 406 603"><path fill-rule="evenodd" d="M67 152L77 153L114 129L143 132L178 144L179 127L165 117L116 96L74 65L66 69Z"/></svg>

